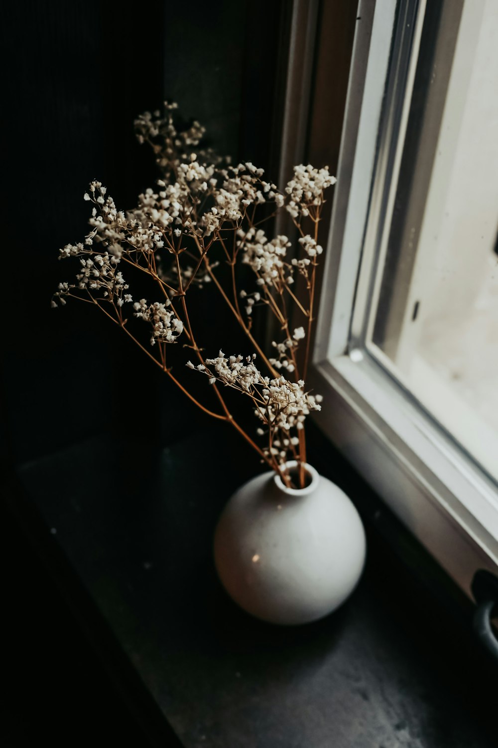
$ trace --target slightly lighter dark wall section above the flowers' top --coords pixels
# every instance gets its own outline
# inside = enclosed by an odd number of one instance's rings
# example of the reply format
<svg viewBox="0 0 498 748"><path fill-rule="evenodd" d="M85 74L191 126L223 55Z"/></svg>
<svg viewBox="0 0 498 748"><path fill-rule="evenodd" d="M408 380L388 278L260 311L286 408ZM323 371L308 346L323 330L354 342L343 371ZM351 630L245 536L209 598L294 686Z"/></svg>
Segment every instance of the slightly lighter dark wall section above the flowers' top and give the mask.
<svg viewBox="0 0 498 748"><path fill-rule="evenodd" d="M166 3L164 91L200 120L220 153L276 168L275 130L283 91L292 3L194 0Z"/></svg>

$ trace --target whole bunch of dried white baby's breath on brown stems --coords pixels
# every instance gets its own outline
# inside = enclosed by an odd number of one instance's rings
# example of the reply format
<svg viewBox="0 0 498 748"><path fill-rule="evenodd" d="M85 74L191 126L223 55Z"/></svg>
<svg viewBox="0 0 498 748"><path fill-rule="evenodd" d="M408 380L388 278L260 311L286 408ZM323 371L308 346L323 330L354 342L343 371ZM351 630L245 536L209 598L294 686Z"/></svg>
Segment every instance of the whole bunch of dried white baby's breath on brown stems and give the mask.
<svg viewBox="0 0 498 748"><path fill-rule="evenodd" d="M290 459L304 465L305 419L320 410L321 397L306 390L305 378L322 254L318 224L324 193L335 179L326 167L299 165L280 191L251 162L231 165L229 159L202 147L204 128L198 122L181 126L177 109L166 103L163 113L146 112L135 121L137 138L152 146L161 178L139 195L133 209L118 210L102 183L90 184L84 194L91 205L90 231L83 242L60 250L60 260L73 258L77 267L73 281L59 284L52 306L72 297L99 307L190 400L212 417L231 423L292 485L283 466ZM256 220L261 206L264 217ZM287 236L267 236L261 228L279 210L287 211L296 227L296 256ZM252 287L240 289L240 264L252 271ZM220 265L229 267L228 283L217 270ZM152 282L152 299L133 298L129 279L137 274ZM295 290L299 276L304 293ZM190 290L199 291L205 284L220 293L254 353L226 357L220 351L216 358L205 357L187 306ZM258 308L275 317L283 334L282 340L273 341L270 355L253 333ZM290 313L293 309L302 324L294 322L291 327L290 320L296 319ZM140 340L134 319L149 325L148 341ZM173 373L170 351L178 343L193 358L187 369L208 377L214 407L200 402ZM299 351L301 345L304 351ZM227 389L252 401L259 424L254 439L228 408ZM261 439L266 440L263 446ZM304 479L301 468L297 485L304 485Z"/></svg>

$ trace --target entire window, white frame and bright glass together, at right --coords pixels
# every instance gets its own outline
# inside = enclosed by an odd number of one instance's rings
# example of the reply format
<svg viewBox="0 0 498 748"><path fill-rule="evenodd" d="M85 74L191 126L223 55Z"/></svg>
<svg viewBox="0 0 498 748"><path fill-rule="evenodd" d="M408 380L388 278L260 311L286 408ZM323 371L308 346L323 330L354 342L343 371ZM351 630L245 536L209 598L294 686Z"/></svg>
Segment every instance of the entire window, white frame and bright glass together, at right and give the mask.
<svg viewBox="0 0 498 748"><path fill-rule="evenodd" d="M498 568L498 7L370 0L358 17L321 426L468 591Z"/></svg>

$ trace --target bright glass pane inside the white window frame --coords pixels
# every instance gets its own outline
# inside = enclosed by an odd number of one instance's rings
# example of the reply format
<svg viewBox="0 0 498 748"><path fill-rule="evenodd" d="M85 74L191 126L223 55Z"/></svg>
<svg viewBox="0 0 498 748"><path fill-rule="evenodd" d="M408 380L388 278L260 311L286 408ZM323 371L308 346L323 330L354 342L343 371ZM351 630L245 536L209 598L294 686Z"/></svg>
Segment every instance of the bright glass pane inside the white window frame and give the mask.
<svg viewBox="0 0 498 748"><path fill-rule="evenodd" d="M495 478L497 231L498 2L450 0L424 29L367 346Z"/></svg>

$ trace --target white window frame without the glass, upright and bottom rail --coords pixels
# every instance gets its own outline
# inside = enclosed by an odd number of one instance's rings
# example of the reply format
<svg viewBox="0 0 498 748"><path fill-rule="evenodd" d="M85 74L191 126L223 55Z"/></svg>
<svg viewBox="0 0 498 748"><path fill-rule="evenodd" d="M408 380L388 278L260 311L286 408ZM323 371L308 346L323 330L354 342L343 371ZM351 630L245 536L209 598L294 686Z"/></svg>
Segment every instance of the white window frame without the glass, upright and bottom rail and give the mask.
<svg viewBox="0 0 498 748"><path fill-rule="evenodd" d="M497 486L364 345L425 7L426 0L358 4L309 379L325 396L317 425L470 595L477 569L498 571Z"/></svg>

